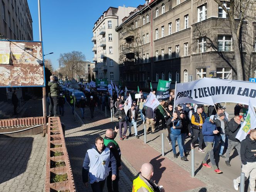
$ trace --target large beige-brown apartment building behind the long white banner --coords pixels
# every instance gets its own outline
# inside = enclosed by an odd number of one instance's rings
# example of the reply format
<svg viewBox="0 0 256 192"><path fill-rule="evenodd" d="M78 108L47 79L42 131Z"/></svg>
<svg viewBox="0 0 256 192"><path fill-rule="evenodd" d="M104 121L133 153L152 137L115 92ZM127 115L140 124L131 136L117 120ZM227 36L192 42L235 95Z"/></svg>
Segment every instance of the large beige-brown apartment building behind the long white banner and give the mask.
<svg viewBox="0 0 256 192"><path fill-rule="evenodd" d="M256 15L249 17L240 38L244 80L256 77ZM159 79L169 78L172 83L212 75L236 79L241 70L235 65L228 15L214 0L146 0L116 32L120 79L129 88L147 88L150 82L156 88Z"/></svg>

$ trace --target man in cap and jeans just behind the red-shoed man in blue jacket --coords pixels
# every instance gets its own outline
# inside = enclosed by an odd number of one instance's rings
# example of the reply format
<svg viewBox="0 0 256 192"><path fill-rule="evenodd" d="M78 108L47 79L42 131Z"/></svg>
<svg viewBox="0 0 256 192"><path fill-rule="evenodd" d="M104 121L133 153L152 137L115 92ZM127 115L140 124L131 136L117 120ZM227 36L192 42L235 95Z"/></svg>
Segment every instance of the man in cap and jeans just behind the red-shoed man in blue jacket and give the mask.
<svg viewBox="0 0 256 192"><path fill-rule="evenodd" d="M214 153L217 152L219 154L219 156L222 158L226 158L223 155L224 145L225 145L225 141L226 141L225 127L227 126L227 123L228 123L227 120L225 119L225 117L226 116L224 113L220 113L220 114L218 114L218 117L216 117L216 120L214 120L214 122L216 124L216 128L219 131L219 133L217 133L214 138L213 152ZM221 147L219 147L219 146L221 146Z"/></svg>

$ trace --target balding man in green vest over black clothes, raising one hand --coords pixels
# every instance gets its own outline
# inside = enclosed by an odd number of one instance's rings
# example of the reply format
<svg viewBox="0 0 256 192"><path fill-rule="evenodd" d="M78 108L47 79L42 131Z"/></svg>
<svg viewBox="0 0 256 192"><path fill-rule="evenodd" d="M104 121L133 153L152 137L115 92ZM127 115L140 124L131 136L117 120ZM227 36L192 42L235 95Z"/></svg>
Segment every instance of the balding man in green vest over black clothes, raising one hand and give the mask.
<svg viewBox="0 0 256 192"><path fill-rule="evenodd" d="M119 181L119 170L122 169L121 166L121 150L117 142L114 140L116 137L116 134L118 132L118 129L115 127L115 131L113 129L107 129L106 135L104 137L104 145L110 149L114 157L116 158L116 179L112 180L112 170L111 170L111 163L109 163L109 175L107 177L107 187L108 192L118 192L118 181ZM113 186L113 187L112 187Z"/></svg>

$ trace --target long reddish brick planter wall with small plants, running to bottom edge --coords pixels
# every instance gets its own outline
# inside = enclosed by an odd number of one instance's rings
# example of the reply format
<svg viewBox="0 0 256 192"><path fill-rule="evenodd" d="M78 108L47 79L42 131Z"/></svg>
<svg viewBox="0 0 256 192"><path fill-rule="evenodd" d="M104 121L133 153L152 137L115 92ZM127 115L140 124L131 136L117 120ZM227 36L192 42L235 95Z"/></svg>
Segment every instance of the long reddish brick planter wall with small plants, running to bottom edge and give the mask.
<svg viewBox="0 0 256 192"><path fill-rule="evenodd" d="M55 156L59 154L58 156ZM56 166L62 165L62 166ZM56 175L67 174L67 180L54 182ZM46 154L46 179L45 191L70 191L75 192L75 184L67 154L65 139L59 117L50 117L48 120L47 154Z"/></svg>

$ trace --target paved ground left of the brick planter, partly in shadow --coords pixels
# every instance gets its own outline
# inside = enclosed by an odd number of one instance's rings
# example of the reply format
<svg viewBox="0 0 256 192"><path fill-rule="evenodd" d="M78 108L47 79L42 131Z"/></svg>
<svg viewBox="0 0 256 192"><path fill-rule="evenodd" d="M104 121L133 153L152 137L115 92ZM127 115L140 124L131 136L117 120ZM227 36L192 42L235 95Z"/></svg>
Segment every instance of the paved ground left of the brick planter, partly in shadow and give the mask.
<svg viewBox="0 0 256 192"><path fill-rule="evenodd" d="M45 184L46 137L0 138L0 191L41 192Z"/></svg>

